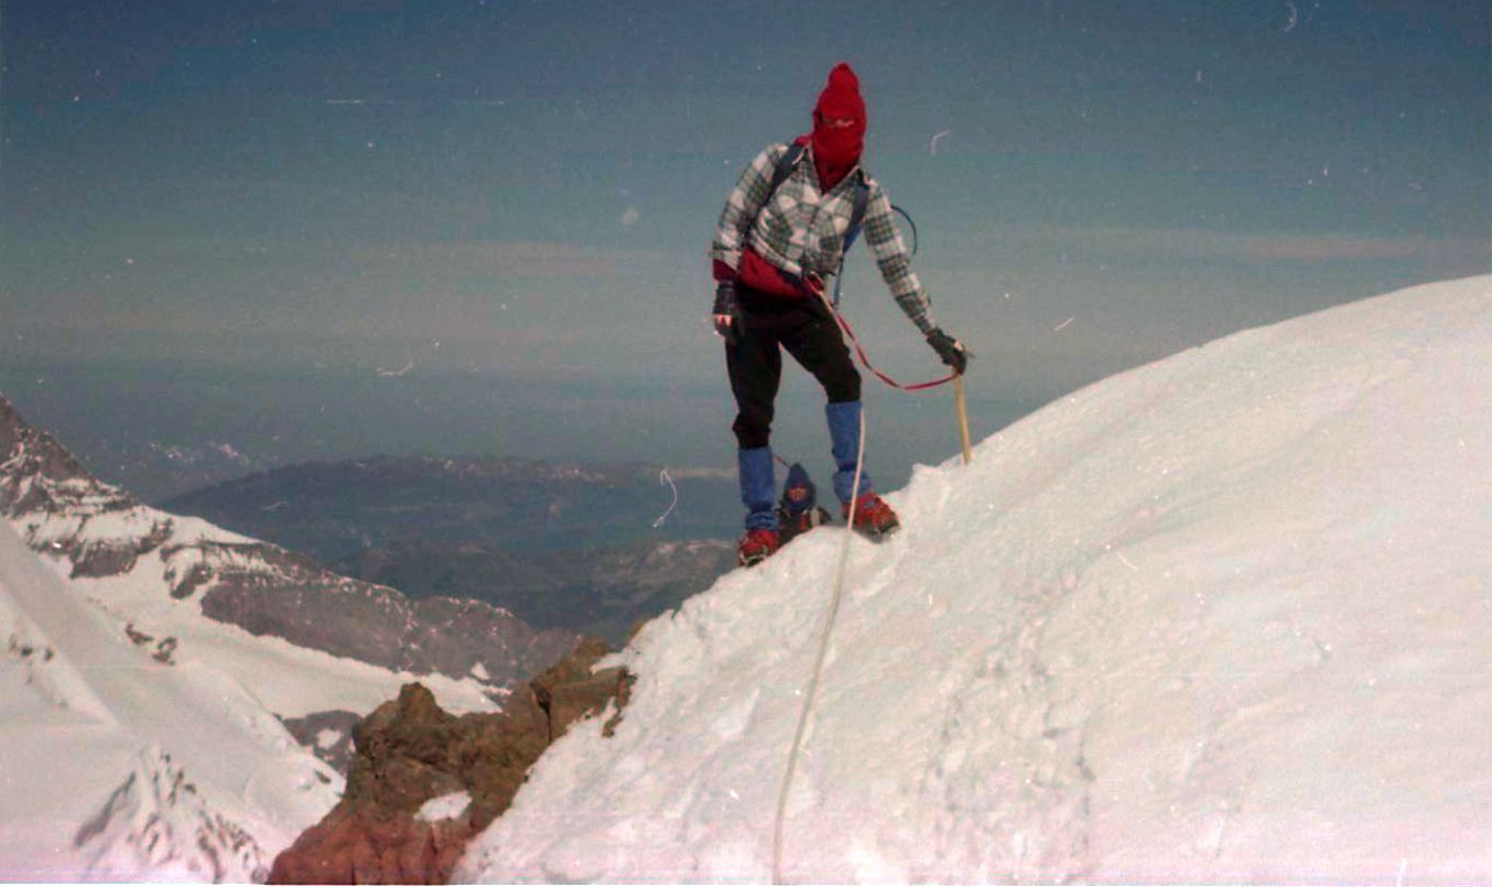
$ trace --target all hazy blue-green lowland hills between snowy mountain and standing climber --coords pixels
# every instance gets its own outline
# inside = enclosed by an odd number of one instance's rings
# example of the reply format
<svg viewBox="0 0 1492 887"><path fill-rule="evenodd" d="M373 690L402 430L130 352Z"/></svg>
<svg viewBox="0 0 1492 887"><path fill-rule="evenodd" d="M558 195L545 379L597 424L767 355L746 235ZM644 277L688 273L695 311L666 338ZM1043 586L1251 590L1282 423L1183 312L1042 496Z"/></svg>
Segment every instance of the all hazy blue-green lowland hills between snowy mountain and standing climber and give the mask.
<svg viewBox="0 0 1492 887"><path fill-rule="evenodd" d="M166 507L413 598L485 601L613 645L733 568L740 526L725 471L497 458L306 462Z"/></svg>

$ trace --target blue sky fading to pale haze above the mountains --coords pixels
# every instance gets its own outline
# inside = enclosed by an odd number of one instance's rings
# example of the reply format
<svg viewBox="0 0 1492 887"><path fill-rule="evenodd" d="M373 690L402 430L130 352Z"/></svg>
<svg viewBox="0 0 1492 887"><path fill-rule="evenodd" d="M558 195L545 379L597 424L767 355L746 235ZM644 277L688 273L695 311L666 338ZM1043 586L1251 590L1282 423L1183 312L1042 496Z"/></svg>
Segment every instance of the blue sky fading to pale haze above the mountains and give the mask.
<svg viewBox="0 0 1492 887"><path fill-rule="evenodd" d="M1485 0L0 15L0 382L22 407L18 380L76 365L273 367L312 405L346 376L562 383L576 404L628 385L622 455L665 400L704 410L686 437L706 443L642 449L725 462L704 252L742 164L807 128L839 60L934 315L977 355L983 431L1216 335L1492 268ZM867 256L850 321L894 374L934 374ZM500 411L449 404L474 408ZM439 443L392 423L358 441Z"/></svg>

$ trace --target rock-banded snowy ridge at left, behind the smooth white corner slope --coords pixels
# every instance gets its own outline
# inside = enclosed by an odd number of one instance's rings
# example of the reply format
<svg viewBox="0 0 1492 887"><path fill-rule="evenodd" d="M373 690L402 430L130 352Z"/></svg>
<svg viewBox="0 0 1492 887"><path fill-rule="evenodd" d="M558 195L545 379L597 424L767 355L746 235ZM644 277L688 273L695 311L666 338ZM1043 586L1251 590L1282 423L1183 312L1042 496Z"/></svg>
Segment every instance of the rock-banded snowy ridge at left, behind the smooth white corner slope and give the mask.
<svg viewBox="0 0 1492 887"><path fill-rule="evenodd" d="M282 717L366 713L410 675L433 675L442 702L457 710L489 707L483 693L537 674L579 640L534 631L482 602L410 601L278 546L151 508L98 482L3 398L0 513L113 614L121 632L175 662L224 665ZM333 657L342 665L328 668ZM295 680L349 669L364 677L321 680L315 689Z"/></svg>

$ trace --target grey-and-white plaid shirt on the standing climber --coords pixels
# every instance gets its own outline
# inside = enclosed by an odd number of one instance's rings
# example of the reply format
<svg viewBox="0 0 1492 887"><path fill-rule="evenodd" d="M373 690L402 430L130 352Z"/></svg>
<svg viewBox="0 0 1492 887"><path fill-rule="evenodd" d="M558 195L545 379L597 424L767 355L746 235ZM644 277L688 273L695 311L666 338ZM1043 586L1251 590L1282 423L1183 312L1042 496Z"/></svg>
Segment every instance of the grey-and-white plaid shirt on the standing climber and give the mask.
<svg viewBox="0 0 1492 887"><path fill-rule="evenodd" d="M864 176L870 191L861 233L897 304L924 335L931 332L937 323L928 310L927 291L912 273L912 255L901 242L901 233L892 221L891 201L880 182L856 167L828 194L821 194L809 148L777 192L770 194L771 173L786 152L786 145L770 145L742 171L740 182L721 212L710 258L739 268L742 249L750 244L761 258L789 274L812 271L830 280L840 267L844 233L853 212L853 177ZM768 195L771 203L764 207ZM752 218L756 219L755 225Z"/></svg>

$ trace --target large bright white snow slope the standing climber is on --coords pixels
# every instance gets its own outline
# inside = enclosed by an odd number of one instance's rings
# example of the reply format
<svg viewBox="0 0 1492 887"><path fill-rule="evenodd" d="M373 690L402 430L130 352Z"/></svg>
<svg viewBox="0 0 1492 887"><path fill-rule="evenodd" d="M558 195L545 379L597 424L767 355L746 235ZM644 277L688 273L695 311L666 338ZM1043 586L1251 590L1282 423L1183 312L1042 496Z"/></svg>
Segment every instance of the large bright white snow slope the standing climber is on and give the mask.
<svg viewBox="0 0 1492 887"><path fill-rule="evenodd" d="M1232 335L919 467L903 534L852 544L785 875L1492 880L1489 477L1492 277ZM649 623L615 736L573 727L458 877L770 878L840 532Z"/></svg>

